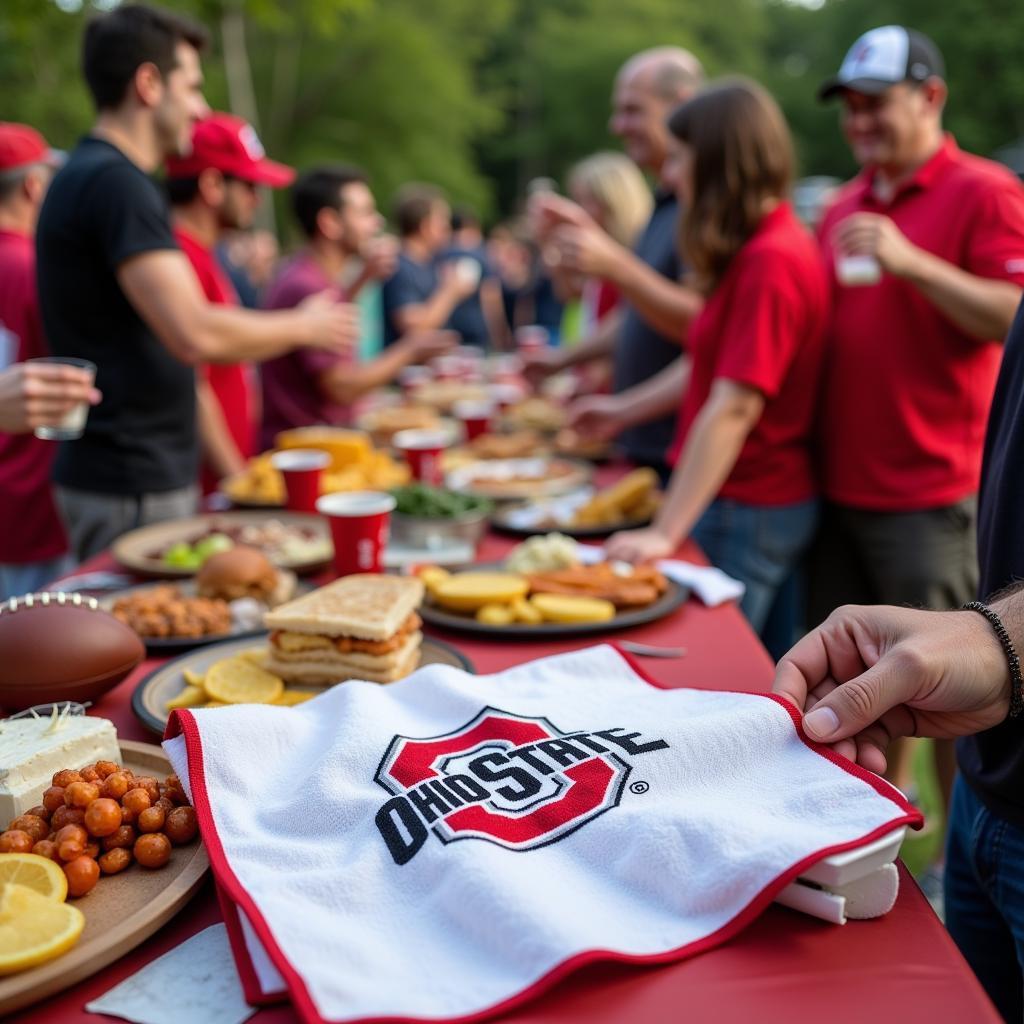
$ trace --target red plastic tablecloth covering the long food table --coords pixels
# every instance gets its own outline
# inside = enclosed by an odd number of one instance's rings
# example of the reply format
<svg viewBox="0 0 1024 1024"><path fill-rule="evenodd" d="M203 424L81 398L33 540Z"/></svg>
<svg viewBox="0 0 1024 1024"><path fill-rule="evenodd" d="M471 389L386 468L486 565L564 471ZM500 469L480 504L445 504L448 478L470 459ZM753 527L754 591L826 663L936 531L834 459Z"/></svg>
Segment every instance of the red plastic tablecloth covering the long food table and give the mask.
<svg viewBox="0 0 1024 1024"><path fill-rule="evenodd" d="M498 559L510 545L507 540L487 537L479 560ZM683 555L700 557L693 548ZM106 556L86 566L112 567ZM450 633L436 635L455 643L481 673L582 646L572 641L494 643ZM687 655L678 660L642 659L650 675L669 685L756 691L771 684L771 660L732 605L712 609L690 600L660 622L617 636L685 647ZM157 741L130 707L133 689L157 664L145 662L91 709L92 714L111 719L123 738ZM902 865L900 871L896 906L878 921L838 927L773 905L738 937L711 952L651 968L594 965L498 1020L502 1024L998 1024L1000 1018L921 890ZM213 887L207 882L188 906L137 949L9 1020L75 1024L111 1019L87 1014L84 1005L219 920ZM187 985L188 979L182 978L181 984ZM167 999L173 1002L173 991ZM297 1018L283 1005L261 1010L252 1020L284 1024Z"/></svg>

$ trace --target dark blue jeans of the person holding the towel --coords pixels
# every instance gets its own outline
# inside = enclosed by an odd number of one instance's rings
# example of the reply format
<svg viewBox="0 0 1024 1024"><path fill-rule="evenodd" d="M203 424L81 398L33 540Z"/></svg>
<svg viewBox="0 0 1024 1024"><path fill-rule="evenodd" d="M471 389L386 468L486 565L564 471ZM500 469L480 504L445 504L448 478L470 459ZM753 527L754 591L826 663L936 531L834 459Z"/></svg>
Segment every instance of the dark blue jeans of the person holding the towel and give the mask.
<svg viewBox="0 0 1024 1024"><path fill-rule="evenodd" d="M999 1013L1024 1019L1024 828L956 779L946 837L946 928Z"/></svg>

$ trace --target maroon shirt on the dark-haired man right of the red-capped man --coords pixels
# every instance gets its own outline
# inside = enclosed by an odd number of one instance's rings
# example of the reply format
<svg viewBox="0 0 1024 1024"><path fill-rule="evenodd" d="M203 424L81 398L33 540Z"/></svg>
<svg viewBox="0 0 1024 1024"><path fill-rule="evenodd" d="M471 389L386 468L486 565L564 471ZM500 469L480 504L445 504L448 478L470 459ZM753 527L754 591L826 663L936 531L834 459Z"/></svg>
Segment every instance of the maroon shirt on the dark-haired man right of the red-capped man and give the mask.
<svg viewBox="0 0 1024 1024"><path fill-rule="evenodd" d="M278 275L263 305L267 309L291 309L303 299L325 289L336 289L324 271L306 253L300 253ZM353 356L297 348L287 355L268 359L260 367L263 382L263 427L260 446L273 447L273 438L292 427L311 427L328 423L348 426L351 409L332 401L319 386L319 376L339 364L350 364Z"/></svg>

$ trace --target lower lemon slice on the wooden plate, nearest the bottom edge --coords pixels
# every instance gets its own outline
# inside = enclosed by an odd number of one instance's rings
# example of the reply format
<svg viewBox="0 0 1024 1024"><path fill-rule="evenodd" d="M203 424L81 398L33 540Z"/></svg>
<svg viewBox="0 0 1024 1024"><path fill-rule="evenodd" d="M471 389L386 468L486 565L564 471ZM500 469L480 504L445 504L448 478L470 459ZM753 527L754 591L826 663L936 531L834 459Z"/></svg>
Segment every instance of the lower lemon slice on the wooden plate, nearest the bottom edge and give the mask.
<svg viewBox="0 0 1024 1024"><path fill-rule="evenodd" d="M84 927L85 915L78 907L49 899L28 886L0 886L0 975L67 952Z"/></svg>

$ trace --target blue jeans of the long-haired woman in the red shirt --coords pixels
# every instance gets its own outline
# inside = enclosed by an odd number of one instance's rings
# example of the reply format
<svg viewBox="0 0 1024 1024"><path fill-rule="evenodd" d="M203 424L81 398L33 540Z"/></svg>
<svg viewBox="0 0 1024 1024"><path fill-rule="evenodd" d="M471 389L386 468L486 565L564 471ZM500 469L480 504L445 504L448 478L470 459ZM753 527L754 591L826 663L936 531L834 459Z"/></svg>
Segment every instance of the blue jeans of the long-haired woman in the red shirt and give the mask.
<svg viewBox="0 0 1024 1024"><path fill-rule="evenodd" d="M746 505L719 498L694 526L691 536L711 563L746 586L739 607L757 633L810 545L817 521L817 501Z"/></svg>

